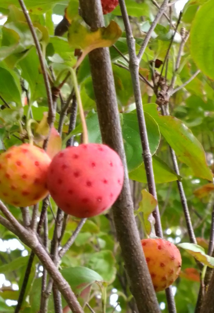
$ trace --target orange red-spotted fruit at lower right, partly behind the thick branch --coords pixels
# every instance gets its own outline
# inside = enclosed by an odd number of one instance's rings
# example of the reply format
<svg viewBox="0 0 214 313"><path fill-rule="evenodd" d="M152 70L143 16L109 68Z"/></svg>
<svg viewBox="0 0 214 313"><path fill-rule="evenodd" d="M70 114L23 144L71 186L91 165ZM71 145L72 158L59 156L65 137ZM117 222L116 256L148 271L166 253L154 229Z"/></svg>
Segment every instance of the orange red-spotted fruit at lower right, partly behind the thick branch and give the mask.
<svg viewBox="0 0 214 313"><path fill-rule="evenodd" d="M180 274L180 251L164 239L142 239L141 244L155 291L166 289Z"/></svg>

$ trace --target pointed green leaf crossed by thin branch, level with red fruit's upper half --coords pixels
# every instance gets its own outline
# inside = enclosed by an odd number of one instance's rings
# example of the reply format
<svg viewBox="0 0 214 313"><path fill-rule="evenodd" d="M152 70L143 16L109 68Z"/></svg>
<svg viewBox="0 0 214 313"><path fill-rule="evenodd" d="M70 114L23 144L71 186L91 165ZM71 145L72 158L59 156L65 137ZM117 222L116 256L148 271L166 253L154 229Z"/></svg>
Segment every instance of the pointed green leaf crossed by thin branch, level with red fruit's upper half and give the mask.
<svg viewBox="0 0 214 313"><path fill-rule="evenodd" d="M173 182L180 178L168 165L163 162L159 157L152 156L153 170L155 176L155 182L162 184L164 182ZM147 183L147 176L142 163L139 167L129 173L129 178L136 180L137 182Z"/></svg>

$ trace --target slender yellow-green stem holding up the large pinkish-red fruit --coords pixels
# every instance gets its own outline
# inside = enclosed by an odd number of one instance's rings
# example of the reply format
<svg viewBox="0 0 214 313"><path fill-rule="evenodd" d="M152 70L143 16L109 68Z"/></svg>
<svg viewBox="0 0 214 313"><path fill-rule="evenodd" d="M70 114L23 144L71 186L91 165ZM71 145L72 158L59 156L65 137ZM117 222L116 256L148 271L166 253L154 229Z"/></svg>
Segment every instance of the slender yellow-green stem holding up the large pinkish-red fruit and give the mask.
<svg viewBox="0 0 214 313"><path fill-rule="evenodd" d="M79 88L78 88L77 76L76 76L76 72L74 69L70 68L70 71L71 71L71 75L72 75L72 79L73 79L75 94L77 97L77 104L79 106L80 119L82 122L82 136L83 136L82 141L83 141L83 143L88 143L88 131L87 131L87 125L86 125L84 110L82 107L82 100L81 100L80 92L79 92Z"/></svg>

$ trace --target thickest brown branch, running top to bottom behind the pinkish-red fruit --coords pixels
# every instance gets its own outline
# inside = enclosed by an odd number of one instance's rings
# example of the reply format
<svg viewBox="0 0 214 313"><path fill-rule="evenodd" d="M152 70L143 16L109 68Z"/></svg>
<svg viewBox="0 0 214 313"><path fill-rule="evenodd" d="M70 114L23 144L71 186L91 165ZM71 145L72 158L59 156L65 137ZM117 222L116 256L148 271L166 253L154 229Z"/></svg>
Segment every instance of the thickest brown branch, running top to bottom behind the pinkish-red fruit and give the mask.
<svg viewBox="0 0 214 313"><path fill-rule="evenodd" d="M80 8L86 23L93 29L104 26L102 7L99 0L80 0ZM89 54L89 62L103 143L118 152L124 166L125 175L122 192L112 209L117 238L120 242L130 278L131 290L136 299L139 312L159 313L160 308L133 214L133 202L109 49L93 50Z"/></svg>

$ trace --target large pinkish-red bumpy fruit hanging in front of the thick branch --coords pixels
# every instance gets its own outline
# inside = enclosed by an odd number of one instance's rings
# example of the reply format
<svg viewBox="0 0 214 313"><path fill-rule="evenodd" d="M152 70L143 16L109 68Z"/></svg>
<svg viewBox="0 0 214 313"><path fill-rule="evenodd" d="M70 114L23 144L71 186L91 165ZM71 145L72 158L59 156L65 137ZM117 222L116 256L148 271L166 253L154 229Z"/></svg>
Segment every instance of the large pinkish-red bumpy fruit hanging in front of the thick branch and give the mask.
<svg viewBox="0 0 214 313"><path fill-rule="evenodd" d="M56 204L78 218L98 215L117 199L123 184L118 154L106 145L81 144L54 156L47 187Z"/></svg>

